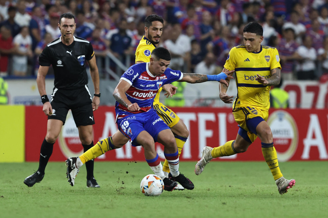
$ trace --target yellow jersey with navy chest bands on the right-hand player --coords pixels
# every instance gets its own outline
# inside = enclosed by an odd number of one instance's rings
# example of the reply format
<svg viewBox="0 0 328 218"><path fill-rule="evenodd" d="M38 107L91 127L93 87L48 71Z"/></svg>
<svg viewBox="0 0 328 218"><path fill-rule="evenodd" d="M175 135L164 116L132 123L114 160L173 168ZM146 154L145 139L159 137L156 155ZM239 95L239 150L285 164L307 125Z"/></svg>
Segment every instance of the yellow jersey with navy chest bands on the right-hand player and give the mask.
<svg viewBox="0 0 328 218"><path fill-rule="evenodd" d="M224 68L235 70L236 73L237 97L234 109L254 106L269 110L271 86L264 86L255 78L256 74L270 78L272 69L281 69L279 61L277 48L269 46L261 45L259 52L248 52L245 45L238 45L230 50Z"/></svg>

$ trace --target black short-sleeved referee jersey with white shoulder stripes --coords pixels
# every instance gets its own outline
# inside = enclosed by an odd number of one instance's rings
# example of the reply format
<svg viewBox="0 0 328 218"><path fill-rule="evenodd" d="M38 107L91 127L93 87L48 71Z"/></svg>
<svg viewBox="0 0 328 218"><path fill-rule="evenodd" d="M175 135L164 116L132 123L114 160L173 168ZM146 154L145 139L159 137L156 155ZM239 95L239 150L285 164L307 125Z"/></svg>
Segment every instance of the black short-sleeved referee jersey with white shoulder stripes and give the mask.
<svg viewBox="0 0 328 218"><path fill-rule="evenodd" d="M89 41L74 36L71 45L64 45L59 37L43 49L39 56L39 64L52 64L56 88L75 89L88 84L86 61L91 60L93 55L94 51Z"/></svg>

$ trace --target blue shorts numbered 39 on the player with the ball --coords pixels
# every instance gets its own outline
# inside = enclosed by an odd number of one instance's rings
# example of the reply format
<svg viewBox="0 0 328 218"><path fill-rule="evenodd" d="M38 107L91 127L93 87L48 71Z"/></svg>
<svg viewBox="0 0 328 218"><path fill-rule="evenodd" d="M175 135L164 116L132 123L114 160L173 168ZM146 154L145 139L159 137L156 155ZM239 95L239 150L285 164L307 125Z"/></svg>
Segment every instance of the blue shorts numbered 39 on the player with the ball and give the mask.
<svg viewBox="0 0 328 218"><path fill-rule="evenodd" d="M132 146L139 146L136 138L142 131L147 131L154 138L154 141L157 141L159 132L170 129L154 109L118 119L117 127L124 136L132 140Z"/></svg>

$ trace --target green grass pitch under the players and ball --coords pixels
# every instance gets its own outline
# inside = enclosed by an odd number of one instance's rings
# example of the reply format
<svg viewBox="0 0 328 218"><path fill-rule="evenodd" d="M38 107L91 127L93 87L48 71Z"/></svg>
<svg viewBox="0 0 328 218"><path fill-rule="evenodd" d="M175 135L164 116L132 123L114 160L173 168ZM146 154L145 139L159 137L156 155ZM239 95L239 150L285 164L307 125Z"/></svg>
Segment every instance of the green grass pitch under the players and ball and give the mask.
<svg viewBox="0 0 328 218"><path fill-rule="evenodd" d="M65 162L50 162L41 183L25 177L38 163L1 163L0 216L7 217L328 217L328 162L285 162L280 169L296 185L280 195L265 162L211 162L196 176L196 162L180 172L195 189L144 196L146 162L97 162L101 188L86 188L83 166L71 187Z"/></svg>

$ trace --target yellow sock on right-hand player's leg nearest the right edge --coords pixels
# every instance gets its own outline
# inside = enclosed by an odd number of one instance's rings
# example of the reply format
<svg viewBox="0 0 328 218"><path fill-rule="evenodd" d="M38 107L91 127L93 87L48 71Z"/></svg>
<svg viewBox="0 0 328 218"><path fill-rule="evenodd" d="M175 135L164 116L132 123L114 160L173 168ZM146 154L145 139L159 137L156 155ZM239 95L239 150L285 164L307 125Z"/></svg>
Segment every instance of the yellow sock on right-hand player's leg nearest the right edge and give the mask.
<svg viewBox="0 0 328 218"><path fill-rule="evenodd" d="M282 173L280 172L277 152L275 147L273 147L273 142L272 143L262 142L261 144L262 144L263 157L271 170L274 180L279 179L282 176Z"/></svg>

